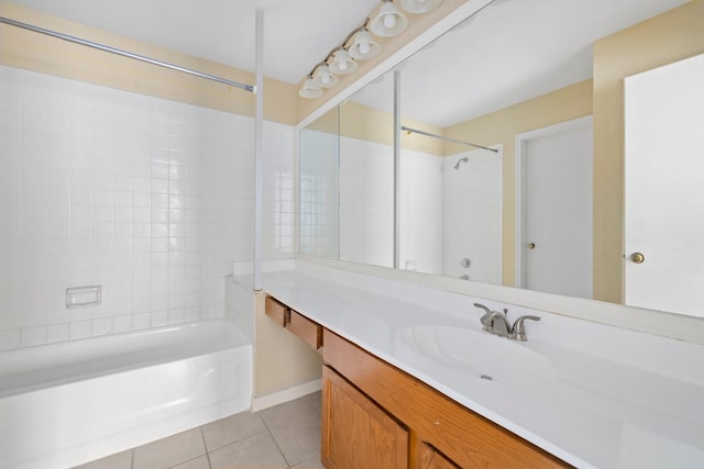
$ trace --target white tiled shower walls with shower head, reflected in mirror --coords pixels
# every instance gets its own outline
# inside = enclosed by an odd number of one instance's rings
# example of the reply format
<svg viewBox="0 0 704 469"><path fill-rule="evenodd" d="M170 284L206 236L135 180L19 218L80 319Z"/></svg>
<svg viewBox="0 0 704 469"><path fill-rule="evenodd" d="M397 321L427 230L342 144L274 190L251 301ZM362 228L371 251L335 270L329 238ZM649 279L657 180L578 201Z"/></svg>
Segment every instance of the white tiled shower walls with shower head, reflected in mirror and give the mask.
<svg viewBox="0 0 704 469"><path fill-rule="evenodd" d="M392 267L393 147L312 130L299 143L301 252ZM439 157L402 148L399 210L402 269L501 284L502 150Z"/></svg>

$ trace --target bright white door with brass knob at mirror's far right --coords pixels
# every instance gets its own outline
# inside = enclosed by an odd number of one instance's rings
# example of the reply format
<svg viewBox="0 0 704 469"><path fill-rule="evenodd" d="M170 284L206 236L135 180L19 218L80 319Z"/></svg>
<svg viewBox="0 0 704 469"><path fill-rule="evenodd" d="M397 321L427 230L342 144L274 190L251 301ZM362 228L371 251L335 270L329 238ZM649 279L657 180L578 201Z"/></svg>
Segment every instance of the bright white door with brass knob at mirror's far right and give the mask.
<svg viewBox="0 0 704 469"><path fill-rule="evenodd" d="M625 302L704 316L704 55L625 93Z"/></svg>

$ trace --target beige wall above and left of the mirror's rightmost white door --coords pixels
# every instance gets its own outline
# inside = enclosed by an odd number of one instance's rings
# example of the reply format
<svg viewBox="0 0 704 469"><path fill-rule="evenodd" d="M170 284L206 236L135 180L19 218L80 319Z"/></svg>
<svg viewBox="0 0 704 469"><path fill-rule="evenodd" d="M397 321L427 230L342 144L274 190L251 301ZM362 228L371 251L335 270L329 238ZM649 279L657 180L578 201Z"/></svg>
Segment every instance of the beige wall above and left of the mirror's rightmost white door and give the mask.
<svg viewBox="0 0 704 469"><path fill-rule="evenodd" d="M703 52L704 0L684 4L594 45L595 299L623 302L624 78Z"/></svg>

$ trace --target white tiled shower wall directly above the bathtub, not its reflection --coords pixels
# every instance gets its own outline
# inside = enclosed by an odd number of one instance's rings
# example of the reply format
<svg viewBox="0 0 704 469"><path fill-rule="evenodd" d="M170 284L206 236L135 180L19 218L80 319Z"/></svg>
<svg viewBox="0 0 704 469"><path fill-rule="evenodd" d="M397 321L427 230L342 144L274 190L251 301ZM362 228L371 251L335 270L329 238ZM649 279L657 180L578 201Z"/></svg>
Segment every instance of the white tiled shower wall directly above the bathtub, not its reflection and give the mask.
<svg viewBox="0 0 704 469"><path fill-rule="evenodd" d="M254 120L9 67L0 90L0 348L222 315L253 253ZM294 130L264 134L263 252L287 258Z"/></svg>

